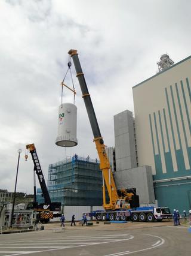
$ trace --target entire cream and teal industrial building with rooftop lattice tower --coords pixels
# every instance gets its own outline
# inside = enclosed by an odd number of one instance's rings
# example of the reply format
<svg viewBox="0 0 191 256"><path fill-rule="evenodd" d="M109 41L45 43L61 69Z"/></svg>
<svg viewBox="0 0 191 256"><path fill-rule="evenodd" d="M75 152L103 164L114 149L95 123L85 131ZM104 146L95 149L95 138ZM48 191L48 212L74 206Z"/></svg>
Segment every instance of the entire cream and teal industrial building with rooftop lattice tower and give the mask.
<svg viewBox="0 0 191 256"><path fill-rule="evenodd" d="M152 170L158 205L191 208L191 56L133 87L138 166Z"/></svg>

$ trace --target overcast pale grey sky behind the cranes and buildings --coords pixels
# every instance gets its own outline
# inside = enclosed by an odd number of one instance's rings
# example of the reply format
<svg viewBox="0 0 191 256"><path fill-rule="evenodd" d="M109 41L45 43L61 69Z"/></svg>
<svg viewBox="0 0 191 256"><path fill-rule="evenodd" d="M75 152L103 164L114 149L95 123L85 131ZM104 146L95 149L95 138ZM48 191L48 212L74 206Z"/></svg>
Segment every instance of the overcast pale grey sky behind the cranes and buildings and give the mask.
<svg viewBox="0 0 191 256"><path fill-rule="evenodd" d="M73 66L78 146L55 144L68 50L78 50L104 143L114 146L113 116L134 111L132 87L156 74L163 53L175 63L190 56L190 10L187 0L1 0L0 188L14 191L21 148L17 191L33 192L29 143L46 180L59 159L98 157ZM66 89L63 101L73 103Z"/></svg>

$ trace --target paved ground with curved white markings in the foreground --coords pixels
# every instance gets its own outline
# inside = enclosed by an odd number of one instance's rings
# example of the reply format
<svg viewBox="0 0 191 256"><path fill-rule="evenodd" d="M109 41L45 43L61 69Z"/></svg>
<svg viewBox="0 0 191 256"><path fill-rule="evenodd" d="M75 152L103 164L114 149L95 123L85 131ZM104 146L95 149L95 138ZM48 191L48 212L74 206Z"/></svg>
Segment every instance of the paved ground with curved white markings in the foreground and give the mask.
<svg viewBox="0 0 191 256"><path fill-rule="evenodd" d="M125 224L70 227L61 230L56 223L45 230L0 236L2 255L121 256L191 254L191 233L186 226L172 222L128 222Z"/></svg>

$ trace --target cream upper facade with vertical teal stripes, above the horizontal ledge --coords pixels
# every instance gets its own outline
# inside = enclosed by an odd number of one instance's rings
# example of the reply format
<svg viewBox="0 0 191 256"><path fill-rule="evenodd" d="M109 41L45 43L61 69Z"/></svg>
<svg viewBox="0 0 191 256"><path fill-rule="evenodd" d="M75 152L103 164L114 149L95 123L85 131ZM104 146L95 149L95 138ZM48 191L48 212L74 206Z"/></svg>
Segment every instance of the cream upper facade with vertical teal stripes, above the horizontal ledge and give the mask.
<svg viewBox="0 0 191 256"><path fill-rule="evenodd" d="M187 58L133 88L138 161L154 179L191 174L190 66Z"/></svg>

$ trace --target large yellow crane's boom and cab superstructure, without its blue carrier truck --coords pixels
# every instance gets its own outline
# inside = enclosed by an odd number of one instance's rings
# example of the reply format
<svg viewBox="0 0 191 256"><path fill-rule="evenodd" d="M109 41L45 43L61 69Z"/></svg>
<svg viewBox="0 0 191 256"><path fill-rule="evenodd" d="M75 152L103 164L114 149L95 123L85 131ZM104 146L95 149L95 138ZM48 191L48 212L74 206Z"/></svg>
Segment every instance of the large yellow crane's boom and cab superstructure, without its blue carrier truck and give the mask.
<svg viewBox="0 0 191 256"><path fill-rule="evenodd" d="M78 77L79 85L82 91L82 98L84 98L85 107L87 109L88 118L90 120L91 129L94 135L94 141L96 143L97 153L100 159L100 169L102 170L103 176L103 207L110 213L110 220L115 219L116 214L113 214L115 210L127 210L130 209L130 201L133 200L134 194L128 193L125 189L121 191L121 197L118 195L118 191L116 189L115 181L113 179L112 171L110 170L109 159L107 158L106 147L104 145L103 138L100 133L100 128L98 127L96 114L94 112L94 107L91 102L91 97L88 92L87 84L85 82L84 73L81 68L81 64L78 58L77 50L69 50L69 55L73 59L73 63L75 65L76 77ZM106 202L106 188L109 195L109 202ZM138 206L138 205L137 205ZM105 215L101 215L106 218Z"/></svg>

